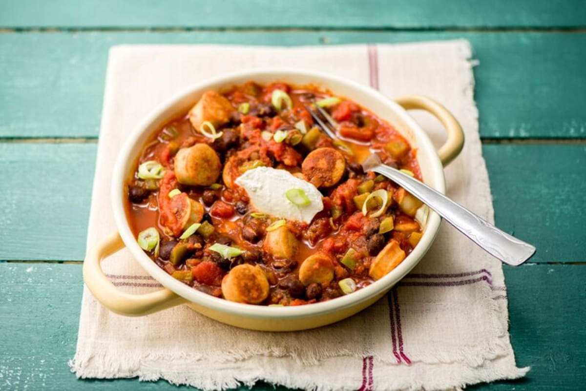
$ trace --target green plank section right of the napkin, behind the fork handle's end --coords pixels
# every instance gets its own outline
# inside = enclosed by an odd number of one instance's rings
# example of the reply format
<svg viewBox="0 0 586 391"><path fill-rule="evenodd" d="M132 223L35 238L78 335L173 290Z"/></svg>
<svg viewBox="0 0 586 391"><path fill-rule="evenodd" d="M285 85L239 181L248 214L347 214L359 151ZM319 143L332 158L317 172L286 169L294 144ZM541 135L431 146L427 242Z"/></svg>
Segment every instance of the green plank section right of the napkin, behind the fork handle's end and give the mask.
<svg viewBox="0 0 586 391"><path fill-rule="evenodd" d="M585 145L485 145L495 221L537 247L530 262L580 262Z"/></svg>

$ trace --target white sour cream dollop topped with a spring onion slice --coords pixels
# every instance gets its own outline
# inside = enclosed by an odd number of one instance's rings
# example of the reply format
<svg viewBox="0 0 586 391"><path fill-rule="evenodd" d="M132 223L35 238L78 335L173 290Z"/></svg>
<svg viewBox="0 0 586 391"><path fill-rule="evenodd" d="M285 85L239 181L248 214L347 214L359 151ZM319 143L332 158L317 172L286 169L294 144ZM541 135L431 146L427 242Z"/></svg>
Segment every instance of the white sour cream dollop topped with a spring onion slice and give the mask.
<svg viewBox="0 0 586 391"><path fill-rule="evenodd" d="M293 176L287 170L257 167L239 176L236 184L246 190L254 208L264 214L309 224L323 210L322 193L311 183ZM289 201L285 193L292 188L303 190L311 203L298 206Z"/></svg>

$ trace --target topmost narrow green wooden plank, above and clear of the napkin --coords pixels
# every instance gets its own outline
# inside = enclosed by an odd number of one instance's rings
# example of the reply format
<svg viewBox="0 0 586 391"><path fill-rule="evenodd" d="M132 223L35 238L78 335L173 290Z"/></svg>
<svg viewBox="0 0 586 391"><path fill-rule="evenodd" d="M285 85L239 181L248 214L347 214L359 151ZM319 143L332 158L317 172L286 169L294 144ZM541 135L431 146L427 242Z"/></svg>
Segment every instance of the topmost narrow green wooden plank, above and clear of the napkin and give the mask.
<svg viewBox="0 0 586 391"><path fill-rule="evenodd" d="M12 0L0 12L11 28L575 28L585 26L580 0Z"/></svg>

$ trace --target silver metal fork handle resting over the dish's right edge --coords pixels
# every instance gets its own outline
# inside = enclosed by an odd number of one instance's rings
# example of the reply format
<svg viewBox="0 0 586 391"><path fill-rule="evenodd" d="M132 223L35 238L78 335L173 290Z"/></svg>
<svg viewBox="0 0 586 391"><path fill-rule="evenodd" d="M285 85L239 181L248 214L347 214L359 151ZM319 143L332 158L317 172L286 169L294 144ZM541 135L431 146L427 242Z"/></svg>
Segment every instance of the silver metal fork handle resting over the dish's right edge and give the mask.
<svg viewBox="0 0 586 391"><path fill-rule="evenodd" d="M444 194L397 169L379 163L370 166L364 165L364 170L372 170L395 181L446 219L458 231L502 262L518 266L531 258L535 252L534 246L501 231L462 205L456 204Z"/></svg>

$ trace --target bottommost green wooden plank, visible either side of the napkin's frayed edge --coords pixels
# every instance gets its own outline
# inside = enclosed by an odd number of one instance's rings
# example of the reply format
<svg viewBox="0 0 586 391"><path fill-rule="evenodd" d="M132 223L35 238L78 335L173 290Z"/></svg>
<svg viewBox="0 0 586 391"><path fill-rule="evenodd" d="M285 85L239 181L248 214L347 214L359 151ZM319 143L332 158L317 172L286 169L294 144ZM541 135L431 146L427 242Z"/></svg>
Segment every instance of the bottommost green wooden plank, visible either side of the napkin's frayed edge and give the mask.
<svg viewBox="0 0 586 391"><path fill-rule="evenodd" d="M532 371L524 380L471 389L580 389L577 382L586 368L581 317L586 267L525 265L507 267L505 274L517 363ZM0 263L0 318L6 336L0 349L0 389L176 389L164 381L77 380L70 373L67 361L75 352L81 291L80 265ZM266 384L254 387L270 389Z"/></svg>

